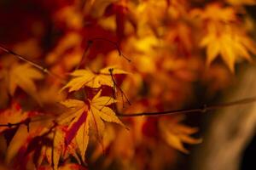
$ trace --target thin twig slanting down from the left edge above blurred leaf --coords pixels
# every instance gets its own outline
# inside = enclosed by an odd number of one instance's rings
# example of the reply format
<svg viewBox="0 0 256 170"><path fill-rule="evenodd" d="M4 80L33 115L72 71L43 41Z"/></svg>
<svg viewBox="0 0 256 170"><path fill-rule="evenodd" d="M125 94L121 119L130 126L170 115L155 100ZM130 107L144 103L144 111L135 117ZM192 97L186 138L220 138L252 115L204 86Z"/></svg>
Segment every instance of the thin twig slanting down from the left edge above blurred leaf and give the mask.
<svg viewBox="0 0 256 170"><path fill-rule="evenodd" d="M0 44L0 49L2 49L7 54L12 54L16 58L18 58L18 59L20 59L22 61L25 61L26 63L28 63L29 65L32 65L33 67L37 68L38 70L43 71L46 74L49 74L49 76L56 77L56 78L60 79L61 81L63 80L62 77L60 77L59 75L49 71L46 67L43 67L41 65L38 65L38 64L32 62L31 60L28 60L28 59L26 59L26 57L24 57L24 56L22 56L20 54L16 54L14 51L12 51L12 50L10 50L8 48L3 47L3 45L1 45L1 44Z"/></svg>

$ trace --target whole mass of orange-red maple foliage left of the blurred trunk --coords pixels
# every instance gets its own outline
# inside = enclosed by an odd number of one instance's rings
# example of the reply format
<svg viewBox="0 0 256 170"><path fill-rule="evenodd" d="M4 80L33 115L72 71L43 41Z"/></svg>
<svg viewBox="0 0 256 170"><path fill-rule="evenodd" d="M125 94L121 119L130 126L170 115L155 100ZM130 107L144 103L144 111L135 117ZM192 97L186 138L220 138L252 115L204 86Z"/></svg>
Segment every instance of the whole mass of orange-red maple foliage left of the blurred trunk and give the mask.
<svg viewBox="0 0 256 170"><path fill-rule="evenodd" d="M255 4L3 0L0 40L13 49L0 48L3 167L172 164L189 153L183 143L201 143L198 129L184 116L132 115L183 107L195 82L209 95L228 87L236 63L256 54L245 9Z"/></svg>

